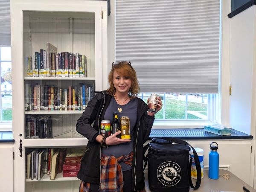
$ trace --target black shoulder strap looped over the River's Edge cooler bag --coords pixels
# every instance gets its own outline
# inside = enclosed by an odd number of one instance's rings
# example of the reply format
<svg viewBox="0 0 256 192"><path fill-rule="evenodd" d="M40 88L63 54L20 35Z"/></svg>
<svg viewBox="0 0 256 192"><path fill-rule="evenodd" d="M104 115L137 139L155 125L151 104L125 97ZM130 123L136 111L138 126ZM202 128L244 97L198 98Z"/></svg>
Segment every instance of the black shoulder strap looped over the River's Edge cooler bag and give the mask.
<svg viewBox="0 0 256 192"><path fill-rule="evenodd" d="M162 144L163 143L179 143L179 144L189 145L189 143L187 143L186 141L183 141L183 140L180 140L180 139L177 139L177 138L174 138L174 137L153 138L150 143L162 143ZM148 149L148 145L149 145L149 143L143 147L143 153L144 154ZM196 172L197 172L197 179L196 179L195 186L192 183L191 176L189 177L189 183L190 183L191 188L198 189L200 187L200 184L201 184L201 176L202 176L201 165L200 165L200 161L199 161L197 152L195 151L195 149L191 145L189 145L189 146L193 150L194 159L195 159L195 167L196 167ZM144 161L145 161L145 164L144 164L143 170L147 166L148 155L146 155L146 156L144 155ZM192 166L192 159L190 158L190 161L189 161L189 175L191 175L191 166Z"/></svg>

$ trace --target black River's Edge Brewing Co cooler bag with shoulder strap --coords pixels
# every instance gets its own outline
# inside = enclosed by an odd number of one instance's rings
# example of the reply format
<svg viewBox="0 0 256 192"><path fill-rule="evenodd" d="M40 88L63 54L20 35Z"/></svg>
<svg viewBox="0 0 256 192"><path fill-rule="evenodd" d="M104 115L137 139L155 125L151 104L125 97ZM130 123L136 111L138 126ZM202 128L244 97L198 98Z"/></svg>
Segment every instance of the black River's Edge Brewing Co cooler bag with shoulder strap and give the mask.
<svg viewBox="0 0 256 192"><path fill-rule="evenodd" d="M201 166L195 149L189 145L194 154L197 169L195 187L191 180L190 147L186 141L172 137L153 138L144 147L148 149L148 184L151 192L188 192L189 187L198 189L201 183Z"/></svg>

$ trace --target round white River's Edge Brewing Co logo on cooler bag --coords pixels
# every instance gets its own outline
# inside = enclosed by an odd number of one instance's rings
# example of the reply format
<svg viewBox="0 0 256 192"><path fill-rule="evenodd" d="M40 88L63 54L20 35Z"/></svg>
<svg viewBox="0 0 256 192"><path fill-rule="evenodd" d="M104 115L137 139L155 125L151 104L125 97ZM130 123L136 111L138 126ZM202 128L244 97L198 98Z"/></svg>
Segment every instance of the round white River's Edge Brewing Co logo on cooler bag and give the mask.
<svg viewBox="0 0 256 192"><path fill-rule="evenodd" d="M181 178L180 166L172 161L166 161L157 169L157 178L165 186L174 186Z"/></svg>

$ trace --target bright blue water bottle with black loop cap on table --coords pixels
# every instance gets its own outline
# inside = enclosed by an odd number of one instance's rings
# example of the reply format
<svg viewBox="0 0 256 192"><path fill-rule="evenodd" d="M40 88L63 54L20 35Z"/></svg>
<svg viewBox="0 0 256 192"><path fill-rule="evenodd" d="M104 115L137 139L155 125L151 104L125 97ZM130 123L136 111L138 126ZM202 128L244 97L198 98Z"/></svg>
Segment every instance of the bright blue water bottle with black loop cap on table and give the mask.
<svg viewBox="0 0 256 192"><path fill-rule="evenodd" d="M217 144L212 145L213 143ZM219 154L217 152L218 143L212 142L210 144L211 151L209 152L209 178L218 179L218 164L219 164Z"/></svg>

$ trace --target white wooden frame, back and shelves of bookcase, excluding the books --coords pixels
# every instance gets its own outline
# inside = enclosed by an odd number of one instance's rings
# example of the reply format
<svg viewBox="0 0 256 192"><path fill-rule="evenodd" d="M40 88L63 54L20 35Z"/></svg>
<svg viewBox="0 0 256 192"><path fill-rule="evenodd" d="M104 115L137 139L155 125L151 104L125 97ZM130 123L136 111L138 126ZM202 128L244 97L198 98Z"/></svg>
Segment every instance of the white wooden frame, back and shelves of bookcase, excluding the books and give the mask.
<svg viewBox="0 0 256 192"><path fill-rule="evenodd" d="M58 174L55 180L50 180L49 175L44 175L41 180L26 177L27 149L87 145L87 139L76 132L76 120L82 109L25 110L26 86L36 84L65 89L87 84L94 91L108 87L107 3L105 0L11 0L14 191L73 192L79 189L80 181L76 177L62 177L62 174ZM29 76L26 57L32 57L40 49L46 50L47 42L57 47L57 53L85 55L87 76ZM30 95L29 98L34 97ZM35 115L51 116L53 138L28 137L26 119Z"/></svg>

